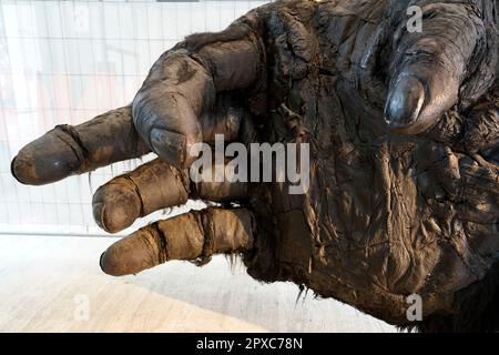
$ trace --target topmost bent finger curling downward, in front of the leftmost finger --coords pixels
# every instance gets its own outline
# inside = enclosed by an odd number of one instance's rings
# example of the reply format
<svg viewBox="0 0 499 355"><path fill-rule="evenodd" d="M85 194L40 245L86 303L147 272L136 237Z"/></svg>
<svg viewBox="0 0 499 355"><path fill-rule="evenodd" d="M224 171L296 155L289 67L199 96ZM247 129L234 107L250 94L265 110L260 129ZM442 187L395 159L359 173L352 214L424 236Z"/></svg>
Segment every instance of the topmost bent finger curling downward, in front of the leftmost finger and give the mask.
<svg viewBox="0 0 499 355"><path fill-rule="evenodd" d="M190 149L203 141L202 112L217 92L252 85L261 62L259 42L242 23L187 38L152 67L133 100L135 128L161 159L187 168L196 159Z"/></svg>

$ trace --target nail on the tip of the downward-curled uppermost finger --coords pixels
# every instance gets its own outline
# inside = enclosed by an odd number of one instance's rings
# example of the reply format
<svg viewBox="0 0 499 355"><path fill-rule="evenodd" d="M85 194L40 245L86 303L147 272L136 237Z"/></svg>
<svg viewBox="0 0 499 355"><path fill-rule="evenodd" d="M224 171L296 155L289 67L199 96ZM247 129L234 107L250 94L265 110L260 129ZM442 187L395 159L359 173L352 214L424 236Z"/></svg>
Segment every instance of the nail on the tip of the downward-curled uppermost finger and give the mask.
<svg viewBox="0 0 499 355"><path fill-rule="evenodd" d="M185 135L162 129L152 129L151 149L166 163L182 169L185 164Z"/></svg>

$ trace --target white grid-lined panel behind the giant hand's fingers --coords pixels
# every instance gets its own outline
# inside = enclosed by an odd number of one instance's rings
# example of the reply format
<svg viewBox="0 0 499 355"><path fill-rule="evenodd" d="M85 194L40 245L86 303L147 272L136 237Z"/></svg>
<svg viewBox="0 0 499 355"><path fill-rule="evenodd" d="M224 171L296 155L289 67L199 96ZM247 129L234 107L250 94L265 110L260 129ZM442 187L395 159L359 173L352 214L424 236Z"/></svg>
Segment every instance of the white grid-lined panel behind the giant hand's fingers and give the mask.
<svg viewBox="0 0 499 355"><path fill-rule="evenodd" d="M92 191L140 161L26 186L10 174L12 158L55 124L79 124L125 105L163 51L265 2L2 0L0 233L102 234L92 217Z"/></svg>

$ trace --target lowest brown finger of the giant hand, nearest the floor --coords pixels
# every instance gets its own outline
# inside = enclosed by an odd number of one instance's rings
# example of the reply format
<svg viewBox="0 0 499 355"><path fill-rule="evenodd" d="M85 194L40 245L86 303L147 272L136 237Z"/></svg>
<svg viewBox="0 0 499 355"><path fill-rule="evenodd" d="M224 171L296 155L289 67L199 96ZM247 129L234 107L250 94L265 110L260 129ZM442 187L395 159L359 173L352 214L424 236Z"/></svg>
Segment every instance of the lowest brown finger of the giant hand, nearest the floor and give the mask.
<svg viewBox="0 0 499 355"><path fill-rule="evenodd" d="M135 274L171 260L206 261L253 245L255 222L246 209L192 211L140 229L101 256L110 275Z"/></svg>

